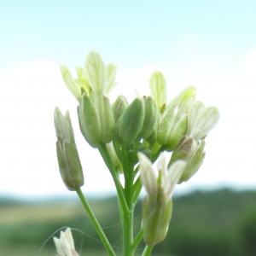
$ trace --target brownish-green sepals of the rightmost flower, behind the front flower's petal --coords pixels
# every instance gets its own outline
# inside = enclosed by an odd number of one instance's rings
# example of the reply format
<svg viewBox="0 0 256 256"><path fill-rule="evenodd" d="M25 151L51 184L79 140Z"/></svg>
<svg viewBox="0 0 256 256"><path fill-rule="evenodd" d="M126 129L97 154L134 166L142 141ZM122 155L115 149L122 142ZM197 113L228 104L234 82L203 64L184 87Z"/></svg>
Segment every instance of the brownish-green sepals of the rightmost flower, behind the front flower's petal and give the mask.
<svg viewBox="0 0 256 256"><path fill-rule="evenodd" d="M169 165L177 160L187 161L183 174L177 183L183 183L189 180L195 172L197 172L205 158L204 148L205 140L196 143L193 137L183 137L172 152L172 157Z"/></svg>

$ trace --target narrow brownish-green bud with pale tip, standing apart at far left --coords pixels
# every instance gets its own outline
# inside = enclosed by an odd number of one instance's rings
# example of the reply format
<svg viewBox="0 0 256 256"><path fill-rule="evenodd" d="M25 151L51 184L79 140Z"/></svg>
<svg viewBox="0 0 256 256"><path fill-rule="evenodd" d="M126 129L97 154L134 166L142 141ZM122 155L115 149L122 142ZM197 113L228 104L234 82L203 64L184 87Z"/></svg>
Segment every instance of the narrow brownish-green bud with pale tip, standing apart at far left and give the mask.
<svg viewBox="0 0 256 256"><path fill-rule="evenodd" d="M57 159L63 183L67 189L75 190L84 185L84 175L76 147L73 127L67 112L63 117L59 108L55 108L55 131Z"/></svg>

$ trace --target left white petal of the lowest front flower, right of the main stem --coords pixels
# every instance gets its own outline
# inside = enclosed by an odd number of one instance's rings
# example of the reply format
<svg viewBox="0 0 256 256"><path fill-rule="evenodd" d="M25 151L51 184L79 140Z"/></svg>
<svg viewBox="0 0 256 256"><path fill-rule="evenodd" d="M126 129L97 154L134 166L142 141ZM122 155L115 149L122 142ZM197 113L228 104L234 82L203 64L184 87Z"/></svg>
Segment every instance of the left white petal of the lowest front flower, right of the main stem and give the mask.
<svg viewBox="0 0 256 256"><path fill-rule="evenodd" d="M157 181L152 168L152 163L148 157L143 153L137 154L140 162L140 178L143 183L143 186L148 192L148 195L156 195L157 193Z"/></svg>

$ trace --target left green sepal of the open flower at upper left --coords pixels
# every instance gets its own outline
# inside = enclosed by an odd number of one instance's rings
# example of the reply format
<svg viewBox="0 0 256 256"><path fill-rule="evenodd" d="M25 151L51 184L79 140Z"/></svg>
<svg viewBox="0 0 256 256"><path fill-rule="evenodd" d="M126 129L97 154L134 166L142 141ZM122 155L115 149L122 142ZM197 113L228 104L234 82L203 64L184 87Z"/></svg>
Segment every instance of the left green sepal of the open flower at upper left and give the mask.
<svg viewBox="0 0 256 256"><path fill-rule="evenodd" d="M87 143L97 148L102 136L101 123L96 107L89 96L83 95L78 110L80 130Z"/></svg>

